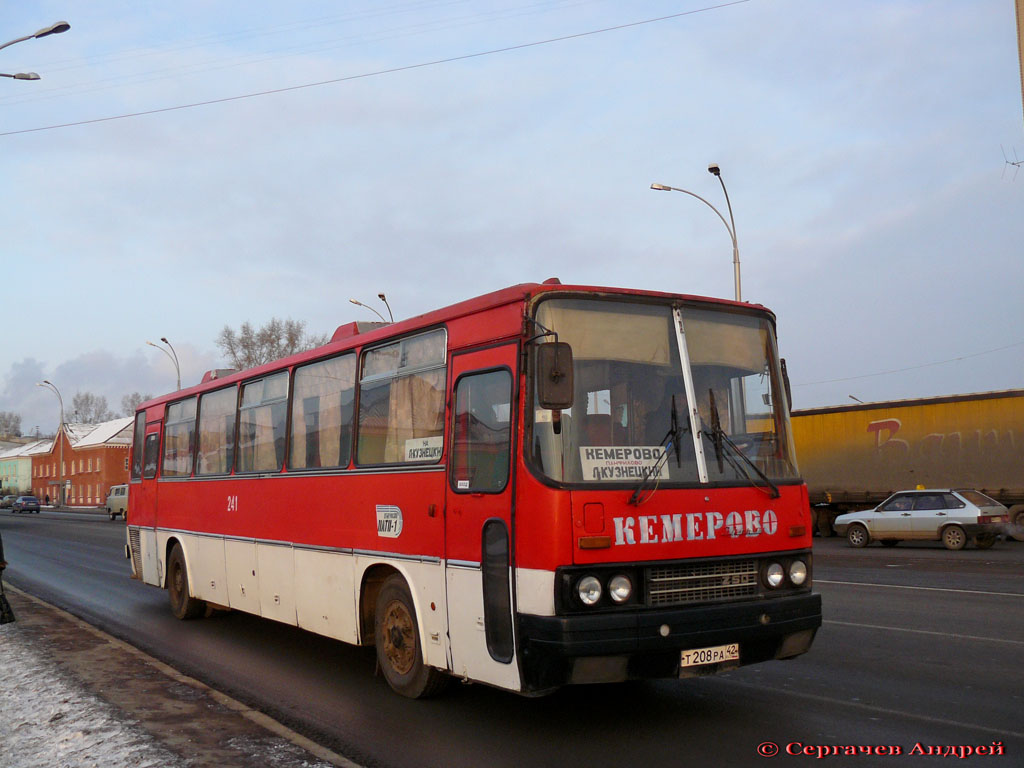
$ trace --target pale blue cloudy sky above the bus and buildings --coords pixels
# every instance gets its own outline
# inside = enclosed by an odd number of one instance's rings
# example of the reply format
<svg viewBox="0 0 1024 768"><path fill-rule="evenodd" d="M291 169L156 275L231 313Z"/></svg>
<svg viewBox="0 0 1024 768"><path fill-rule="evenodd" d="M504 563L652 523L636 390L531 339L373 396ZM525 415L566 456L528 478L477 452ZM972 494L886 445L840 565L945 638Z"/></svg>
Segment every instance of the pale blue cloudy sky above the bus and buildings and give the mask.
<svg viewBox="0 0 1024 768"><path fill-rule="evenodd" d="M0 79L27 432L56 425L41 379L117 408L174 388L147 340L193 384L225 325L331 333L382 291L396 316L552 275L731 298L714 211L649 188L725 211L711 162L798 408L1024 386L1013 0L44 1L0 44L58 19L0 51L41 76Z"/></svg>

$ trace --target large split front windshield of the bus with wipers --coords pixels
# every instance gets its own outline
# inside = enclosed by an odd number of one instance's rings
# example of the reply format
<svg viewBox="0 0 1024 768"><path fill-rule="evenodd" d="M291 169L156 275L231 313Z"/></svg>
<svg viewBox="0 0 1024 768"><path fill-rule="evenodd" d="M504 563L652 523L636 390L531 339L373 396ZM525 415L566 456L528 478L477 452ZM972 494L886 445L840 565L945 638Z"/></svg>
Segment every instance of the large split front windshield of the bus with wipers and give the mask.
<svg viewBox="0 0 1024 768"><path fill-rule="evenodd" d="M556 298L536 318L573 355L572 408L535 402L530 456L545 476L591 486L797 479L768 316Z"/></svg>

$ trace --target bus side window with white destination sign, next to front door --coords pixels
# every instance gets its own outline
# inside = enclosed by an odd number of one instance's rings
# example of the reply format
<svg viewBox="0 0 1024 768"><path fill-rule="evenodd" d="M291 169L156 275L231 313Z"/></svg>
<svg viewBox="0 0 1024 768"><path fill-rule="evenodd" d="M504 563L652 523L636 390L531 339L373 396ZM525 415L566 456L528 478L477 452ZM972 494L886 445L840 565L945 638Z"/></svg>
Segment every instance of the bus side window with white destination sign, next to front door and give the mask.
<svg viewBox="0 0 1024 768"><path fill-rule="evenodd" d="M440 329L364 354L358 464L440 461L445 346L446 334Z"/></svg>

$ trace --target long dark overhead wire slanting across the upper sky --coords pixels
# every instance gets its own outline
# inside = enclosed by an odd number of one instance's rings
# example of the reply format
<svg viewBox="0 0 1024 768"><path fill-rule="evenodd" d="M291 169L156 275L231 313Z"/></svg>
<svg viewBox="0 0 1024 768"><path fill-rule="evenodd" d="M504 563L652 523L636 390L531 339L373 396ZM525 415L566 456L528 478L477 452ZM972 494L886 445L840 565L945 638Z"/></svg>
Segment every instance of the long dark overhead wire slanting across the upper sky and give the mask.
<svg viewBox="0 0 1024 768"><path fill-rule="evenodd" d="M562 43L568 40L578 40L585 37L593 37L594 35L603 35L608 32L617 32L620 30L628 30L634 27L642 27L645 25L657 24L659 22L669 22L674 18L681 18L683 16L690 16L696 13L705 13L712 10L720 10L721 8L727 8L731 5L741 5L743 3L751 2L751 0L732 0L732 2L720 3L718 5L709 5L703 8L695 8L693 10L681 11L679 13L672 13L666 16L657 16L656 18L645 18L641 22L630 22L629 24L615 25L614 27L604 27L599 30L589 30L587 32L578 32L572 35L562 35L561 37L553 37L547 40L535 40L529 43L520 43L518 45L508 45L503 48L492 48L490 50L476 51L474 53L464 53L459 56L449 56L446 58L437 58L431 61L421 61L419 63L404 65L402 67L391 67L385 70L376 70L374 72L364 72L358 75L346 75L340 78L332 78L330 80L319 80L314 83L303 83L301 85L290 85L283 88L271 88L269 90L255 91L252 93L243 93L236 96L223 96L221 98L211 98L205 101L194 101L186 104L177 104L174 106L162 106L155 110L144 110L141 112L125 113L122 115L113 115L105 118L93 118L91 120L78 120L71 123L58 123L54 125L45 125L37 128L23 128L14 131L3 131L0 132L0 136L16 136L23 133L39 133L41 131L53 131L60 128L73 128L82 125L94 125L96 123L110 123L115 120L128 120L129 118L140 118L147 115L160 115L168 112L180 112L182 110L194 110L199 106L211 106L213 104L229 103L231 101L242 101L250 98L258 98L260 96L270 96L278 93L289 93L291 91L305 90L307 88L318 88L325 85L334 85L336 83L346 83L352 80L366 80L368 78L381 77L383 75L394 75L399 72L410 72L412 70L422 70L427 67L437 67L438 65L453 63L455 61L465 61L471 58L481 58L483 56L493 56L499 53L510 53L512 51L524 50L526 48L537 48L542 45L552 45L554 43Z"/></svg>

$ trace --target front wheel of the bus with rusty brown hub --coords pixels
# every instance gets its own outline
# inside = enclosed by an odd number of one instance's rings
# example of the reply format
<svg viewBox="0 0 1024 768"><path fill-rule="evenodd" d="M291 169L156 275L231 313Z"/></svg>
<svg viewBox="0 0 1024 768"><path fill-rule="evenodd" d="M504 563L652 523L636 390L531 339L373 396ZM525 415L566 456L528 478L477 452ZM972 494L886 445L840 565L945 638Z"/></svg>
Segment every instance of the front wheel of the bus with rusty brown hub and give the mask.
<svg viewBox="0 0 1024 768"><path fill-rule="evenodd" d="M447 684L447 675L423 664L416 608L409 586L398 573L388 577L377 593L374 642L377 664L396 693L426 698Z"/></svg>

